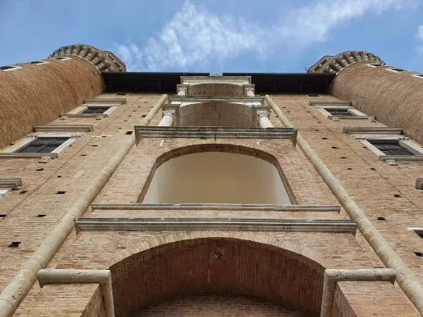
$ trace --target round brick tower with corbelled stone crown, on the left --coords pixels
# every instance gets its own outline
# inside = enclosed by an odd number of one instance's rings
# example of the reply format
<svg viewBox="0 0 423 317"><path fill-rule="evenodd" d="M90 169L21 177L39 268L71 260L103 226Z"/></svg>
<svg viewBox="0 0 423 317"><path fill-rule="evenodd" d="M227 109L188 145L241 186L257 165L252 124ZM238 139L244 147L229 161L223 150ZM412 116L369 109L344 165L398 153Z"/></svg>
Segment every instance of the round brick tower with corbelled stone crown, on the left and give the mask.
<svg viewBox="0 0 423 317"><path fill-rule="evenodd" d="M109 51L63 46L47 60L0 68L0 147L104 91L102 71L125 71Z"/></svg>

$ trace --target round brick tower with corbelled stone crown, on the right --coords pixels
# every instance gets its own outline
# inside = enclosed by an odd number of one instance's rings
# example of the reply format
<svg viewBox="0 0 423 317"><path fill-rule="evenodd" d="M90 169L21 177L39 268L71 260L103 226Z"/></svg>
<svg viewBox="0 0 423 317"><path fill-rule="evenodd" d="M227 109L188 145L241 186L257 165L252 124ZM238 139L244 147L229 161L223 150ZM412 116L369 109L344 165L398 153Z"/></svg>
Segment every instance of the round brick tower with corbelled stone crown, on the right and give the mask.
<svg viewBox="0 0 423 317"><path fill-rule="evenodd" d="M378 56L362 51L325 56L309 73L336 73L330 89L334 97L352 101L358 110L385 125L403 128L406 135L423 143L423 77L419 74L386 66Z"/></svg>

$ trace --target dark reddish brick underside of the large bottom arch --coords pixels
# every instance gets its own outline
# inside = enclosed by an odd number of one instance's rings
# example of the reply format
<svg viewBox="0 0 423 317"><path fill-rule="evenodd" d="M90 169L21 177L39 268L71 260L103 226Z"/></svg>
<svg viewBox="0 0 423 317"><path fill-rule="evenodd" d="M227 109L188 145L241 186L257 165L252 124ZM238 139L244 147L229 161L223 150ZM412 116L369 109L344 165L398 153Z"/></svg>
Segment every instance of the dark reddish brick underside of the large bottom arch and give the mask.
<svg viewBox="0 0 423 317"><path fill-rule="evenodd" d="M209 292L266 299L305 316L320 312L324 266L274 244L216 236L179 240L128 256L110 270L119 317Z"/></svg>

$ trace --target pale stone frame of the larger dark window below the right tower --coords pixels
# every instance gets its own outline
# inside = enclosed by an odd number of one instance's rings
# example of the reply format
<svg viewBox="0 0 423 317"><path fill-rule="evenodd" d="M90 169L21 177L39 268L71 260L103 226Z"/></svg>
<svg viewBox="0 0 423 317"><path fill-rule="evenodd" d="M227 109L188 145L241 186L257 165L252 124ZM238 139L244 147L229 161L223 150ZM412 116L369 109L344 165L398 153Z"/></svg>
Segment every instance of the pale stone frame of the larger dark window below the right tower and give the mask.
<svg viewBox="0 0 423 317"><path fill-rule="evenodd" d="M416 142L403 135L354 135L367 149L379 156L380 161L423 161L423 149ZM371 141L397 141L398 144L415 155L387 155L377 149ZM389 163L389 162L388 162Z"/></svg>

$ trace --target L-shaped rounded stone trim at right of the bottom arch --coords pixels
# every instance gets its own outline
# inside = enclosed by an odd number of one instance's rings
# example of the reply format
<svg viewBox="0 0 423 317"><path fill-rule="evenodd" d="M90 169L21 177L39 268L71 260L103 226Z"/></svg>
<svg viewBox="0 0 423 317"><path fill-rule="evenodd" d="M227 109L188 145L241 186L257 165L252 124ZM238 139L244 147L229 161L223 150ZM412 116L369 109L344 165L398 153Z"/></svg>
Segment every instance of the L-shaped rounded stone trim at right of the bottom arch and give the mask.
<svg viewBox="0 0 423 317"><path fill-rule="evenodd" d="M323 294L321 296L320 317L331 317L333 294L336 283L340 280L354 281L388 281L392 284L396 279L396 271L392 268L372 268L362 270L332 270L324 271Z"/></svg>

